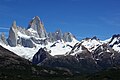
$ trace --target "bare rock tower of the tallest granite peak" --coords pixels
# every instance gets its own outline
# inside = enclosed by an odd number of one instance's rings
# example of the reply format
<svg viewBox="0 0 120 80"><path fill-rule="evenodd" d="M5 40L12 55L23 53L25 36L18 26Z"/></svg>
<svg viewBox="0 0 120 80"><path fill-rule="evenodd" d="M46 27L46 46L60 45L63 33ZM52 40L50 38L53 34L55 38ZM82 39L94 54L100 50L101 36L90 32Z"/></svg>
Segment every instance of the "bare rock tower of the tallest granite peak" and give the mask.
<svg viewBox="0 0 120 80"><path fill-rule="evenodd" d="M37 31L40 38L47 37L47 33L46 33L45 28L44 28L44 24L43 24L43 22L40 20L40 18L38 16L35 16L31 20L31 22L29 23L28 29L30 29L30 28Z"/></svg>

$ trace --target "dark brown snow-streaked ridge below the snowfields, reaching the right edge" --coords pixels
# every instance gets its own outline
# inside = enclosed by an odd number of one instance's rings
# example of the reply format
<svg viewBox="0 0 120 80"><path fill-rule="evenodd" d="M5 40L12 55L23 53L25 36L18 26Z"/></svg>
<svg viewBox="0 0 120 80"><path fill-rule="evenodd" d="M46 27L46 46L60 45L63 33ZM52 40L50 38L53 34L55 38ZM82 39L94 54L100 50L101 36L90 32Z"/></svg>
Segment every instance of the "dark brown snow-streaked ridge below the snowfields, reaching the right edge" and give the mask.
<svg viewBox="0 0 120 80"><path fill-rule="evenodd" d="M66 55L48 57L38 64L47 67L65 68L75 73L91 73L120 65L120 53L114 51L108 44L99 45L94 51L90 52L82 43L76 43ZM55 44L51 47L54 46Z"/></svg>

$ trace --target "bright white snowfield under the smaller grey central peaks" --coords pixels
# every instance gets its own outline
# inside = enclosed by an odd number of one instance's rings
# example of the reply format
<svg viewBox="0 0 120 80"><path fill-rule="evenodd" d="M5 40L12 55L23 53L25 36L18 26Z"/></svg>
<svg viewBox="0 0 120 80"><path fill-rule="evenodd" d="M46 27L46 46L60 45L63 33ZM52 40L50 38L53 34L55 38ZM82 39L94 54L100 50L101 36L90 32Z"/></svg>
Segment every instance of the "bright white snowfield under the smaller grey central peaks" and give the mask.
<svg viewBox="0 0 120 80"><path fill-rule="evenodd" d="M72 50L72 47L77 43L78 41L74 39L72 42L64 42L63 40L56 41L54 43L50 43L46 46L47 49L51 50L50 55L65 55L67 52Z"/></svg>

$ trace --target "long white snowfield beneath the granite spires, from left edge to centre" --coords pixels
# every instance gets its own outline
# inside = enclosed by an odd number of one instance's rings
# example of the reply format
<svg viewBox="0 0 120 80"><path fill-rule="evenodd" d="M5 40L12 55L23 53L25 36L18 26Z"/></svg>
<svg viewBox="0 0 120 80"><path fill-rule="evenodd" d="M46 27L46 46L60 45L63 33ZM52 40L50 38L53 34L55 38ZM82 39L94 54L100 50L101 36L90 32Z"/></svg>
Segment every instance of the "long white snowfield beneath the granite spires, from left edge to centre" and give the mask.
<svg viewBox="0 0 120 80"><path fill-rule="evenodd" d="M9 45L5 45L2 43L0 43L0 45L3 46L4 48L16 53L17 55L19 55L21 57L32 60L33 56L40 48L46 47L50 51L50 55L52 55L52 56L65 55L67 52L69 52L72 49L68 45L73 46L77 42L78 41L75 39L72 42L64 42L64 41L61 42L58 40L54 43L48 43L48 45L36 44L36 47L33 47L33 48L23 47L21 45L18 45L16 47L11 47Z"/></svg>

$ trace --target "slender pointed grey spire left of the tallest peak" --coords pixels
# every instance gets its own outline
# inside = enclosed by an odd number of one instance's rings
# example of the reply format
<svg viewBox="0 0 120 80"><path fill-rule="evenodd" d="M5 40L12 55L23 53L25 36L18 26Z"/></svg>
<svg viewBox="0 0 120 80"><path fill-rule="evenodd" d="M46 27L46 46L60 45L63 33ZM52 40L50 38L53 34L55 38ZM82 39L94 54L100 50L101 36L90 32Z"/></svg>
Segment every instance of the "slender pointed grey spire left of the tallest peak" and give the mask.
<svg viewBox="0 0 120 80"><path fill-rule="evenodd" d="M17 25L16 25L16 21L13 22L12 27L9 30L9 37L7 39L8 44L12 47L15 47L17 45Z"/></svg>

